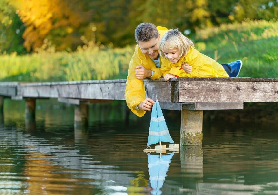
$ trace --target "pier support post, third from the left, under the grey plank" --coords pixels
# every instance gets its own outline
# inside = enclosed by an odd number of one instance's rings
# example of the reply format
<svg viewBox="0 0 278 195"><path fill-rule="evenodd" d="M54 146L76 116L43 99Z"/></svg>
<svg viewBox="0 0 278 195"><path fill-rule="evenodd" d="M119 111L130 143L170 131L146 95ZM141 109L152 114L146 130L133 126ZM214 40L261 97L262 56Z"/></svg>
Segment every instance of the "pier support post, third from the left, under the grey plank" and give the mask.
<svg viewBox="0 0 278 195"><path fill-rule="evenodd" d="M88 127L88 104L75 105L74 126Z"/></svg>

